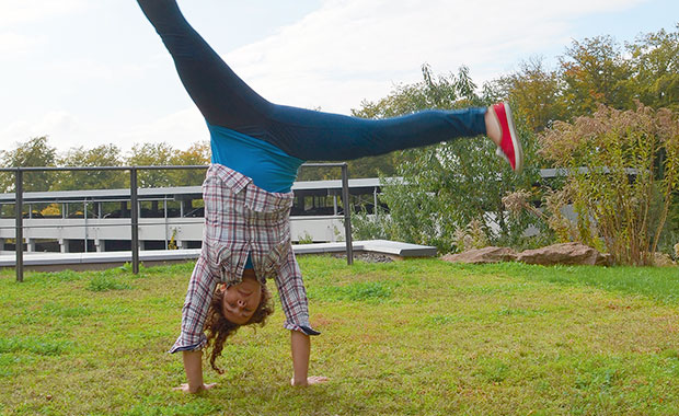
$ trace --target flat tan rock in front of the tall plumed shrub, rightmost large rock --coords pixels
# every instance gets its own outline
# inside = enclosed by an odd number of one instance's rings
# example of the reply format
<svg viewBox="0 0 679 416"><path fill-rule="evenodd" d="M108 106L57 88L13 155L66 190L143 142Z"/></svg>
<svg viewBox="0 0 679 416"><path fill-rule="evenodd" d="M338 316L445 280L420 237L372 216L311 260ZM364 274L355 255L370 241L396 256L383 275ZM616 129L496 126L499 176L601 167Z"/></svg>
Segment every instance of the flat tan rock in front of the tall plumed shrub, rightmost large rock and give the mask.
<svg viewBox="0 0 679 416"><path fill-rule="evenodd" d="M526 250L517 255L517 261L541 265L609 265L610 256L601 254L585 244L562 243L536 250Z"/></svg>

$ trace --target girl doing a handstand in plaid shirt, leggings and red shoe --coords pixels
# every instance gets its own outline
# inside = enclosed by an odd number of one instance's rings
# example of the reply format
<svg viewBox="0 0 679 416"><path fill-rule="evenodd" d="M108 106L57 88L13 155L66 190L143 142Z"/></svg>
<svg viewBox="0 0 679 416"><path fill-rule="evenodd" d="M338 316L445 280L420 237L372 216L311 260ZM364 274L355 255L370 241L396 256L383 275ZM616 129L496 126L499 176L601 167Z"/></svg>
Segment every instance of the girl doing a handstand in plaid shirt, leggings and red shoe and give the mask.
<svg viewBox="0 0 679 416"><path fill-rule="evenodd" d="M522 151L509 107L426 111L373 120L277 105L248 86L191 27L175 0L138 0L172 55L180 79L210 131L211 164L203 184L203 250L188 284L182 331L171 353L182 351L192 393L203 381L202 349L210 365L241 325L264 324L273 312L266 279L274 278L291 332L294 377L309 378L309 323L301 271L290 245L290 188L307 160L350 160L393 150L487 135L515 171ZM204 333L207 331L207 336Z"/></svg>

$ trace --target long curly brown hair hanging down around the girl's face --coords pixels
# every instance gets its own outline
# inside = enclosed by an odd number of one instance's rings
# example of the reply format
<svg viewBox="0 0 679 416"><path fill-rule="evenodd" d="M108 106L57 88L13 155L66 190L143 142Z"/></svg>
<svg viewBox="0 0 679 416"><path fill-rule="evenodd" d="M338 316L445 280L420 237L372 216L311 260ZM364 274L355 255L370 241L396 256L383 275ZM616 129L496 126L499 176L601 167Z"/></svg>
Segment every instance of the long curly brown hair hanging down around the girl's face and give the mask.
<svg viewBox="0 0 679 416"><path fill-rule="evenodd" d="M210 351L210 366L219 374L223 374L223 370L215 365L215 360L221 356L221 351L225 347L227 338L233 334L243 325L234 324L227 320L222 310L222 300L226 293L226 288L218 286L212 294L210 307L207 312L207 320L205 328L207 331L207 348ZM260 305L254 311L250 321L244 325L258 325L264 326L268 315L274 313L274 304L272 302L272 293L266 288L266 285L262 285L262 299Z"/></svg>

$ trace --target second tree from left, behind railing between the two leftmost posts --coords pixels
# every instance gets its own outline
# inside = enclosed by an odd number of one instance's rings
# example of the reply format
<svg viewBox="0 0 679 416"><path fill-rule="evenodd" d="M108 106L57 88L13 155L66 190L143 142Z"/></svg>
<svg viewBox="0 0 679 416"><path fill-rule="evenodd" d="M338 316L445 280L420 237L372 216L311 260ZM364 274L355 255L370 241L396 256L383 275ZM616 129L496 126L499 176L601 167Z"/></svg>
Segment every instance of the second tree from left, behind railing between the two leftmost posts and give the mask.
<svg viewBox="0 0 679 416"><path fill-rule="evenodd" d="M71 148L58 159L62 166L119 166L120 148L102 145L92 149ZM68 189L115 189L126 187L129 175L122 171L67 171L58 175L51 190Z"/></svg>

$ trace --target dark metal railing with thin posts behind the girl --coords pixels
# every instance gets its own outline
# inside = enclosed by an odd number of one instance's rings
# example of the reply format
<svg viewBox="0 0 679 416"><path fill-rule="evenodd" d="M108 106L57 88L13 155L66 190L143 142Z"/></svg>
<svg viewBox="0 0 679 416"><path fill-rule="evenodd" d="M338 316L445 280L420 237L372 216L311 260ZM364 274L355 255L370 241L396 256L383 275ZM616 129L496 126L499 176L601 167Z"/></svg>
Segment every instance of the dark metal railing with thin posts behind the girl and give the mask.
<svg viewBox="0 0 679 416"><path fill-rule="evenodd" d="M206 165L179 165L179 166L41 166L41 167L0 167L0 172L13 172L15 175L14 188L14 213L15 213L15 244L16 252L16 281L23 281L24 277L24 186L23 175L25 172L83 172L83 171L129 171L130 195L130 231L131 231L131 266L135 275L139 274L139 171L172 171L172 170L197 170L207 169ZM304 163L302 167L341 167L342 169L342 205L344 210L344 232L346 240L347 264L354 263L354 250L352 244L352 212L349 201L349 178L347 163ZM85 213L87 217L87 213ZM82 226L78 226L82 227ZM85 241L85 250L88 242Z"/></svg>

